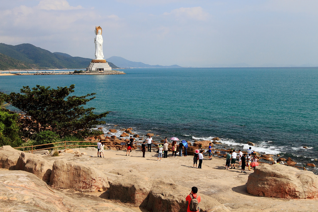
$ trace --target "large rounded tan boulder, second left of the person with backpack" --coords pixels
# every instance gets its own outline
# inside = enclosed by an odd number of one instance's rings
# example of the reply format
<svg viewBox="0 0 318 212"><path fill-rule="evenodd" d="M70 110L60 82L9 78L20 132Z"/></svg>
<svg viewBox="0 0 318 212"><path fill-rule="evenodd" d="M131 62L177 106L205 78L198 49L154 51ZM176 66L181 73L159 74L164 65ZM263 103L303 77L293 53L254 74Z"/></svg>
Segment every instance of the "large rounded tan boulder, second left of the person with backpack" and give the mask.
<svg viewBox="0 0 318 212"><path fill-rule="evenodd" d="M64 159L54 161L50 184L56 188L73 188L82 192L96 192L108 187L107 177L100 170Z"/></svg>

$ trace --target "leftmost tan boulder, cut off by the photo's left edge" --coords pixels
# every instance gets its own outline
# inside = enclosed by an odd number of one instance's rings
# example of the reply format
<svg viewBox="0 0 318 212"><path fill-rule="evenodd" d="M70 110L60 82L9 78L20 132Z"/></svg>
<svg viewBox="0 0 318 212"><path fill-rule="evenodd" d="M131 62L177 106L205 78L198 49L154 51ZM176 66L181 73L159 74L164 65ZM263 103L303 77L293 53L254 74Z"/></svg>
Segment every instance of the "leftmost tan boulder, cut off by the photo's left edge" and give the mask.
<svg viewBox="0 0 318 212"><path fill-rule="evenodd" d="M0 147L0 168L15 169L21 153L11 146Z"/></svg>

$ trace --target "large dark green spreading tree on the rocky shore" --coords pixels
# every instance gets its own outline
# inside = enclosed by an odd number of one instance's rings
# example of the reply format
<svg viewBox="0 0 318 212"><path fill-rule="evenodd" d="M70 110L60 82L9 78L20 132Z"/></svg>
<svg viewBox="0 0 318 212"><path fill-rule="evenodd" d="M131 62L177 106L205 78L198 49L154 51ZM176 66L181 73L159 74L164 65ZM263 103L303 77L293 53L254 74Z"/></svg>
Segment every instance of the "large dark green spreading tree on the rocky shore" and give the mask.
<svg viewBox="0 0 318 212"><path fill-rule="evenodd" d="M94 99L93 95L96 93L69 96L74 92L74 88L75 85L70 85L69 88L57 87L57 89L37 85L31 90L29 86L23 86L20 91L24 94L11 92L6 95L6 102L31 117L31 119L22 119L23 128L29 132L37 134L51 130L61 137L75 133L82 136L100 134L91 128L105 123L98 119L105 117L108 112L94 114L95 108L84 108L83 105Z"/></svg>

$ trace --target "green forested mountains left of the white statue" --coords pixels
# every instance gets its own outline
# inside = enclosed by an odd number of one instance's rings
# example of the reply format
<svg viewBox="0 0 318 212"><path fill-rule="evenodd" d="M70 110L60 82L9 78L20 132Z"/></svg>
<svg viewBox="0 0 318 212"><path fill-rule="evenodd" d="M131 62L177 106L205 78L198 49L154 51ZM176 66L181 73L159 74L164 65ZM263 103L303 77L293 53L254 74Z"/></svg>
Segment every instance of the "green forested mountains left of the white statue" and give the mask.
<svg viewBox="0 0 318 212"><path fill-rule="evenodd" d="M72 57L65 53L50 52L32 44L7 45L0 43L0 53L7 56L6 62L0 64L0 70L11 69L86 69L92 59ZM10 60L14 59L14 60ZM30 68L19 68L23 67ZM109 63L112 68L118 68ZM2 67L3 66L3 67ZM31 67L32 66L32 67ZM9 67L9 68L6 68Z"/></svg>

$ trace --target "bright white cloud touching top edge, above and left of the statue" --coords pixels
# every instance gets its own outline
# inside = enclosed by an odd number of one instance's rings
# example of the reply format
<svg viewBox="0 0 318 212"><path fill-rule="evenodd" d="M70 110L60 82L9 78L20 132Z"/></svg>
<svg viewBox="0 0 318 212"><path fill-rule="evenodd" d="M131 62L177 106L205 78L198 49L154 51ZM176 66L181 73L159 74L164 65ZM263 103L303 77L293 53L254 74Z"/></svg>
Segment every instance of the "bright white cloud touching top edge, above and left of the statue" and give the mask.
<svg viewBox="0 0 318 212"><path fill-rule="evenodd" d="M66 0L40 0L37 6L40 10L77 10L83 9L82 6L72 7Z"/></svg>

